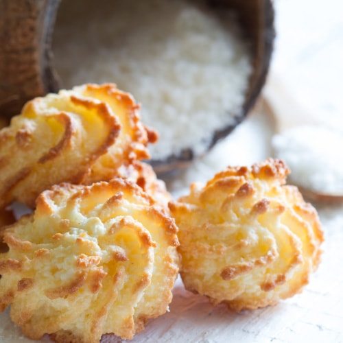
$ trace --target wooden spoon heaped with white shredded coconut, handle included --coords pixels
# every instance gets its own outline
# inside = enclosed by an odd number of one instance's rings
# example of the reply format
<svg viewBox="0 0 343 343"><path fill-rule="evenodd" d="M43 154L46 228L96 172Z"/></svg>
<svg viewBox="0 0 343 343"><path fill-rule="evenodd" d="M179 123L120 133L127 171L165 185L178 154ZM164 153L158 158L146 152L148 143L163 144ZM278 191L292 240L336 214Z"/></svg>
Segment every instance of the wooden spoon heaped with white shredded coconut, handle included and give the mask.
<svg viewBox="0 0 343 343"><path fill-rule="evenodd" d="M264 96L276 120L272 149L291 169L289 182L311 200L343 202L343 132L306 113L272 76Z"/></svg>

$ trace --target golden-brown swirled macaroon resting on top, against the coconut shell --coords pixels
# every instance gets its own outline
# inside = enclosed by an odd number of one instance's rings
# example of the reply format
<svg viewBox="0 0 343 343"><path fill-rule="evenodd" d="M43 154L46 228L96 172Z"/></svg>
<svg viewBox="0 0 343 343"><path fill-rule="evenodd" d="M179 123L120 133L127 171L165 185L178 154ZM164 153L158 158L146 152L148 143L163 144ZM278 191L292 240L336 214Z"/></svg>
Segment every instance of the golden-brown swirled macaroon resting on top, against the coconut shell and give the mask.
<svg viewBox="0 0 343 343"><path fill-rule="evenodd" d="M29 207L60 182L110 180L116 169L148 158L156 134L139 106L114 84L85 84L27 102L0 131L0 208Z"/></svg>

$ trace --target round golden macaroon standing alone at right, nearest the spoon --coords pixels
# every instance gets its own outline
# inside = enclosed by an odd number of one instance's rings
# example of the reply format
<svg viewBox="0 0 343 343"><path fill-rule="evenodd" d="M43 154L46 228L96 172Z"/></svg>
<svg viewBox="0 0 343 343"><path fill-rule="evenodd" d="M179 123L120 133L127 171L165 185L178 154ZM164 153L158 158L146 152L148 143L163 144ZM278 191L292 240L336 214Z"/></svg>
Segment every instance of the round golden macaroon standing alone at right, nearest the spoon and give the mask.
<svg viewBox="0 0 343 343"><path fill-rule="evenodd" d="M323 234L316 209L285 185L287 174L272 159L228 167L169 204L187 289L240 311L274 305L307 284Z"/></svg>

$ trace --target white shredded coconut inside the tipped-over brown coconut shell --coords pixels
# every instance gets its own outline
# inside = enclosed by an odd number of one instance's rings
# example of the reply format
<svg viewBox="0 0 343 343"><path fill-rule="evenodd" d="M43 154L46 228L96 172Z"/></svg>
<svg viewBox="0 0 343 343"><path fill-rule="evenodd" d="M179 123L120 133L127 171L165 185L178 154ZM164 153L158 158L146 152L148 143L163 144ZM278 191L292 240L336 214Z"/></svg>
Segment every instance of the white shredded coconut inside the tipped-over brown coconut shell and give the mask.
<svg viewBox="0 0 343 343"><path fill-rule="evenodd" d="M206 151L217 129L235 125L252 71L235 16L204 1L64 0L54 29L64 88L114 82L142 104L160 134L154 160Z"/></svg>

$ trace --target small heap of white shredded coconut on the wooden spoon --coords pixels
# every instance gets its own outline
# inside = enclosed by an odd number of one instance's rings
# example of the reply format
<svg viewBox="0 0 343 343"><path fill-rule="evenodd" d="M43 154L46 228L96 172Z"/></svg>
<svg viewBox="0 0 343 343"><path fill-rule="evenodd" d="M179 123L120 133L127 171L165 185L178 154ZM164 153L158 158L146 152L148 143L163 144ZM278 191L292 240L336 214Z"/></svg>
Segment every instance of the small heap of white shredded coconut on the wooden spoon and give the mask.
<svg viewBox="0 0 343 343"><path fill-rule="evenodd" d="M289 181L306 189L343 194L343 135L319 126L298 126L272 139L275 154L292 173Z"/></svg>

